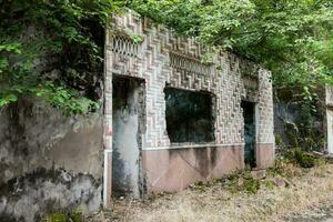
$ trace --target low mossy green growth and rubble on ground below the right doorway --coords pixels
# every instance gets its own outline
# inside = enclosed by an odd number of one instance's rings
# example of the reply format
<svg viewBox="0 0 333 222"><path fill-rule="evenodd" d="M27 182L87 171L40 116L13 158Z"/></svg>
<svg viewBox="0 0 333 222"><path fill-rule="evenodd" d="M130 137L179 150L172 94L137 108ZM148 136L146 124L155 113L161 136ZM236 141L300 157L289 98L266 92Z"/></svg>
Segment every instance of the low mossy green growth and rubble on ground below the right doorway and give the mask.
<svg viewBox="0 0 333 222"><path fill-rule="evenodd" d="M262 188L272 189L274 186L290 185L290 179L305 174L311 168L322 168L327 161L324 158L315 157L296 148L285 150L276 157L274 167L266 171L245 170L226 178L214 179L211 182L198 182L190 185L192 190L205 191L206 188L221 184L231 193L255 194Z"/></svg>

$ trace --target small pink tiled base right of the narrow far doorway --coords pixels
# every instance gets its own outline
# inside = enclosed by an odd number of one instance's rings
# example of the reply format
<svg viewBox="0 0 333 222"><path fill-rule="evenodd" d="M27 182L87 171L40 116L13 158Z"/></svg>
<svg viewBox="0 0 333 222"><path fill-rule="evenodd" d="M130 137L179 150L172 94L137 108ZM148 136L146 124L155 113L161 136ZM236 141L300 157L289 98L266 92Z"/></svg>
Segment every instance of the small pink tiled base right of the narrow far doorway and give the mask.
<svg viewBox="0 0 333 222"><path fill-rule="evenodd" d="M256 144L256 168L265 169L274 164L275 151L273 143Z"/></svg>

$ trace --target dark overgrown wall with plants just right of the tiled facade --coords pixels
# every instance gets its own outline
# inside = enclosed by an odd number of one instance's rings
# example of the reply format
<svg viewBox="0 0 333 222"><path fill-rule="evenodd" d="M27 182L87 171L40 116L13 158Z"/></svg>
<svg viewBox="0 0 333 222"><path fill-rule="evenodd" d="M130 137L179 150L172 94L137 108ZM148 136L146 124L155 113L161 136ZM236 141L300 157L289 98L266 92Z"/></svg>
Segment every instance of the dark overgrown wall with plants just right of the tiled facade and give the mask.
<svg viewBox="0 0 333 222"><path fill-rule="evenodd" d="M275 88L274 101L278 104L275 124L284 128L284 132L275 132L279 148L324 151L326 142L324 90L323 87L302 89L301 85Z"/></svg>

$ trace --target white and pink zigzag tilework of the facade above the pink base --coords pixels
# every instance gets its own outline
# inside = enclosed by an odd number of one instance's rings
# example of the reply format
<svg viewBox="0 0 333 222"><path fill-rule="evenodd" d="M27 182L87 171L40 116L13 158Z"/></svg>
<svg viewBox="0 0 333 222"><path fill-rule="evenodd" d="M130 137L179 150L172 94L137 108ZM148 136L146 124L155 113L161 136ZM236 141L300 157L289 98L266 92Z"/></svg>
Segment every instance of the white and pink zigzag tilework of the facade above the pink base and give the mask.
<svg viewBox="0 0 333 222"><path fill-rule="evenodd" d="M270 71L231 52L220 52L212 63L202 64L204 49L194 38L175 36L165 27L141 19L134 13L115 17L111 22L123 33L141 36L143 41L131 46L129 42L119 42L121 38L118 38L118 46L132 47L135 56L131 56L132 52L122 50L119 53L114 50L114 33L109 30L107 34L105 149L112 150L112 74L130 75L145 81L147 130L143 134L143 150L172 147L165 123L165 84L209 91L215 95L215 144L244 143L241 108L243 99L258 102L258 142L274 143ZM251 73L256 80L254 88L253 82L249 84L249 80L242 74L244 64L255 67L251 69L255 70Z"/></svg>

